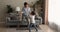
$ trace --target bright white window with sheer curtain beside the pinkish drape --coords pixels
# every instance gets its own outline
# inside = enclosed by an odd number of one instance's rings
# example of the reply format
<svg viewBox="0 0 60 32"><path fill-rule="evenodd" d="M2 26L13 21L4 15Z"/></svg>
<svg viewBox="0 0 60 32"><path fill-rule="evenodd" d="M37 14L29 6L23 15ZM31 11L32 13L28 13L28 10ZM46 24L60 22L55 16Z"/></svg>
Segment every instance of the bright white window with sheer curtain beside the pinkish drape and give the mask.
<svg viewBox="0 0 60 32"><path fill-rule="evenodd" d="M55 27L56 29L60 30L60 0L49 0L48 20L50 26L55 24L53 28Z"/></svg>

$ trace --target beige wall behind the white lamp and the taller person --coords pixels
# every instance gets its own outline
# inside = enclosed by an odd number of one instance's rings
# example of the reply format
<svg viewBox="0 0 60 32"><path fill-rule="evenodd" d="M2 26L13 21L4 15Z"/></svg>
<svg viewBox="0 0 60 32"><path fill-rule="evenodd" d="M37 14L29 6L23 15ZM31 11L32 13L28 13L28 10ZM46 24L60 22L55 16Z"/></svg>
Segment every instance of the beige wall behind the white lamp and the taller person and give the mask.
<svg viewBox="0 0 60 32"><path fill-rule="evenodd" d="M25 1L32 4L32 2L35 3L37 0L0 0L0 22L5 21L7 11L6 5L11 5L13 9L17 6L22 8Z"/></svg>

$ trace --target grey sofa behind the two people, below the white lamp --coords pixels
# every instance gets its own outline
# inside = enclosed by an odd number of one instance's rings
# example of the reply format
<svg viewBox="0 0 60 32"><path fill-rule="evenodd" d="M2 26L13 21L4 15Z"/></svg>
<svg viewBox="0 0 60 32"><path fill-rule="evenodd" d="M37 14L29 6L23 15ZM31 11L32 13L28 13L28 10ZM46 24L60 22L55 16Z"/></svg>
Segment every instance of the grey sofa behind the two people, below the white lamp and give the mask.
<svg viewBox="0 0 60 32"><path fill-rule="evenodd" d="M11 19L11 17L9 16L9 17L6 17L6 25L7 26L18 25L18 23L19 23L19 25L28 25L28 22L25 21L25 20L24 21L20 21L16 17L13 17L13 19ZM36 21L37 25L42 24L42 18L41 17L36 17L35 21Z"/></svg>

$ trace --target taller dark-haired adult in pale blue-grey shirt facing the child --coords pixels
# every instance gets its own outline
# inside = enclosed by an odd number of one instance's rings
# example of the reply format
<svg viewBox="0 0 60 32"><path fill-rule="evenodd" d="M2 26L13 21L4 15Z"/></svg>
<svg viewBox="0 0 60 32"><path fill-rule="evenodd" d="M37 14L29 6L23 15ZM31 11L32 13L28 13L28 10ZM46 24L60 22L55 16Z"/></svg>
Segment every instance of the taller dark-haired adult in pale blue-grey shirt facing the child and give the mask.
<svg viewBox="0 0 60 32"><path fill-rule="evenodd" d="M24 7L22 8L22 12L23 12L22 20L26 19L28 21L29 14L30 14L31 10L30 10L30 7L27 2L24 2Z"/></svg>

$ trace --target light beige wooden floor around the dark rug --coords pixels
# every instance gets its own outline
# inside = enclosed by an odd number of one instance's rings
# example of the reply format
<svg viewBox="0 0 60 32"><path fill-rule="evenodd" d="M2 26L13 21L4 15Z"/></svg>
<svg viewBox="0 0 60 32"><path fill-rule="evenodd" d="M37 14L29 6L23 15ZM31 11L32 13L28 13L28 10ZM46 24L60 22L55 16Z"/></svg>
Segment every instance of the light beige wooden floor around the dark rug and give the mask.
<svg viewBox="0 0 60 32"><path fill-rule="evenodd" d="M47 25L40 25L40 30L39 32L56 32L52 29L50 29ZM34 32L35 30L32 30ZM16 28L5 28L5 27L0 27L0 32L29 32L29 30L17 30Z"/></svg>

